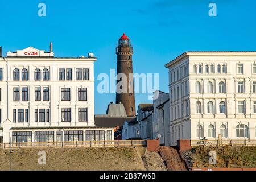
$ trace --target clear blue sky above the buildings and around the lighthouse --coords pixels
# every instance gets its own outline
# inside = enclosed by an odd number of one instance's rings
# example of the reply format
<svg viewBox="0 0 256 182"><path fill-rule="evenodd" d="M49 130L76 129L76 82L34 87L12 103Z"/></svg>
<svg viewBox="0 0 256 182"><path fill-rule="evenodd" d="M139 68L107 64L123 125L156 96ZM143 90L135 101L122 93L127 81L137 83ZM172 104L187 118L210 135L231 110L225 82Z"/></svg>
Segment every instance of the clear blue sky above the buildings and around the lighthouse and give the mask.
<svg viewBox="0 0 256 182"><path fill-rule="evenodd" d="M38 4L46 3L46 17ZM217 17L208 5L217 5ZM159 88L168 92L164 64L185 51L256 51L256 1L251 0L0 0L0 45L3 52L29 46L56 57L93 52L94 76L116 69L115 45L123 32L134 47L136 73L159 73ZM95 112L105 113L115 94L97 93ZM136 105L151 102L136 94Z"/></svg>

